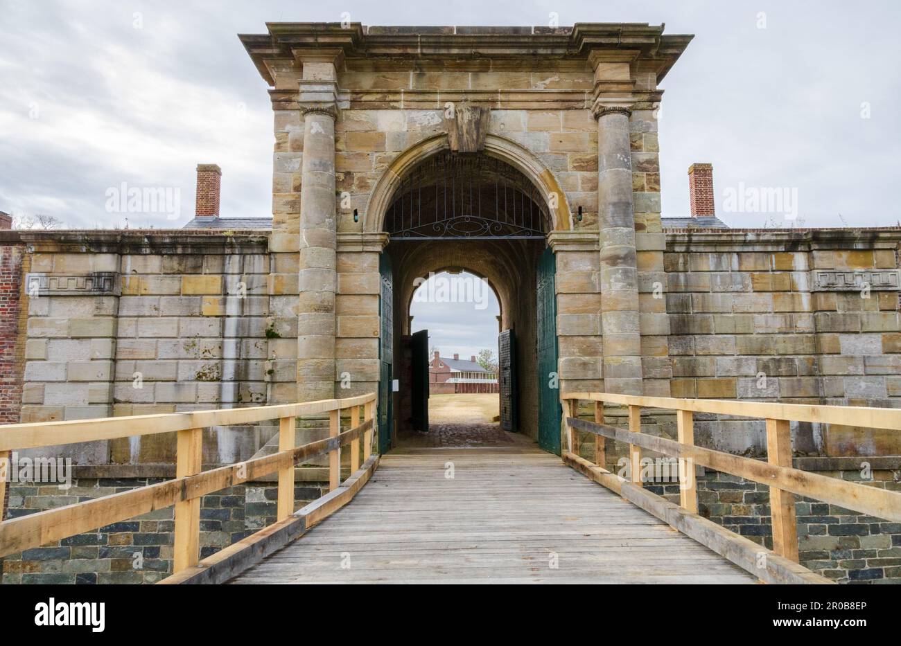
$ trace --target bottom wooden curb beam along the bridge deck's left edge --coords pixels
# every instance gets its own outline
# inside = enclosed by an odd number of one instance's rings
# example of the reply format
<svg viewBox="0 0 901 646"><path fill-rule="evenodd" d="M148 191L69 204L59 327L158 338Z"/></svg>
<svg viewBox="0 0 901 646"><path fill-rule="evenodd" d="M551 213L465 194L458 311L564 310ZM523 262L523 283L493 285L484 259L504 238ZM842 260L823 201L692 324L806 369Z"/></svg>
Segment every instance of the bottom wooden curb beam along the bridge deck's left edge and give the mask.
<svg viewBox="0 0 901 646"><path fill-rule="evenodd" d="M359 489L362 489L376 469L378 469L378 456L369 459L359 471L351 475L341 485L340 490L335 493L350 492L349 498L344 499L343 504L349 502L350 498L353 498ZM331 494L329 495L331 496ZM250 534L247 538L216 552L214 555L200 561L195 567L162 579L158 585L224 583L259 563L269 554L277 552L288 543L300 538L307 529L322 522L324 518L339 508L341 506L336 506L335 503L326 506L320 504L318 500L314 501L305 507L301 507L286 519L274 525L269 525L259 530L259 532ZM311 523L309 521L313 515L315 515L315 518L314 522Z"/></svg>

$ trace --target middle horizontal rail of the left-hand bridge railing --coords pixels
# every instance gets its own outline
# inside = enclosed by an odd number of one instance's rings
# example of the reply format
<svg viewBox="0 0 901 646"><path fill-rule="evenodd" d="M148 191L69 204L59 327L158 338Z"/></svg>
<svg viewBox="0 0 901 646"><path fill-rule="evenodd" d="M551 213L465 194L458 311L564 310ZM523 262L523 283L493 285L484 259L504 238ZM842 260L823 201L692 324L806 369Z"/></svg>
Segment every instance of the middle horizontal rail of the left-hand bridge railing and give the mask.
<svg viewBox="0 0 901 646"><path fill-rule="evenodd" d="M28 516L13 518L0 524L0 556L21 552L31 547L83 534L97 527L141 516L177 502L199 498L241 482L258 480L287 465L295 465L315 455L328 453L333 447L348 444L354 437L371 429L371 421L345 431L339 437L327 437L296 447L289 452L273 453L247 462L203 471L186 478L102 496L66 507L46 509Z"/></svg>

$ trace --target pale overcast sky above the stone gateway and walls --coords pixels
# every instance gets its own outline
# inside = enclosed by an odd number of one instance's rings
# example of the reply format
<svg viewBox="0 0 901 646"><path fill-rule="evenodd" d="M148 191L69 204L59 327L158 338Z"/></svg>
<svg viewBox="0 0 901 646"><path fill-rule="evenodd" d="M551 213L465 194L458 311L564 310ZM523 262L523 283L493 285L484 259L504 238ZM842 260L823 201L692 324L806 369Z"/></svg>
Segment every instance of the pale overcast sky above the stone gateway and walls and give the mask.
<svg viewBox="0 0 901 646"><path fill-rule="evenodd" d="M665 216L687 214L687 167L711 162L733 227L901 220L896 0L0 0L0 211L178 227L200 162L223 167L223 216L268 215L268 94L236 34L341 13L364 24L665 22L696 34L663 83ZM171 219L116 212L123 185L168 189ZM797 219L727 200L759 188L786 189Z"/></svg>

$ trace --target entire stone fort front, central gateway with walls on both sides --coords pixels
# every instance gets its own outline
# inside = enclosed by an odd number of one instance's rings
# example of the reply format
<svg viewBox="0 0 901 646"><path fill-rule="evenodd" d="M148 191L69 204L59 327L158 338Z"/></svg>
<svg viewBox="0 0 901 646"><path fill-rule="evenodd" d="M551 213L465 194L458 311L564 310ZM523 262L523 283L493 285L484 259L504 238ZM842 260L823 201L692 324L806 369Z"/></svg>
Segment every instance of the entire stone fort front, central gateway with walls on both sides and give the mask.
<svg viewBox="0 0 901 646"><path fill-rule="evenodd" d="M186 229L0 232L2 421L378 390L387 451L413 388L414 282L449 268L496 290L505 424L551 452L566 391L896 406L901 231L722 229L700 193L696 220L661 220L660 85L690 40L636 23L241 36L272 102L272 219L218 218L219 170L201 166ZM698 191L707 170L692 170ZM207 429L205 463L267 451L276 430ZM867 462L875 486L898 488L895 435L793 431L803 468L860 479ZM763 438L762 422L698 417L698 444L760 455ZM8 513L170 476L174 447L149 435L60 448L77 486L13 487ZM297 498L322 475L299 474ZM205 553L275 515L267 483L235 489L205 499ZM769 540L765 488L708 472L701 489L702 513ZM901 579L901 527L799 509L809 567ZM170 567L168 514L7 559L5 579L155 580ZM135 550L141 572L124 564ZM71 565L90 558L106 565Z"/></svg>

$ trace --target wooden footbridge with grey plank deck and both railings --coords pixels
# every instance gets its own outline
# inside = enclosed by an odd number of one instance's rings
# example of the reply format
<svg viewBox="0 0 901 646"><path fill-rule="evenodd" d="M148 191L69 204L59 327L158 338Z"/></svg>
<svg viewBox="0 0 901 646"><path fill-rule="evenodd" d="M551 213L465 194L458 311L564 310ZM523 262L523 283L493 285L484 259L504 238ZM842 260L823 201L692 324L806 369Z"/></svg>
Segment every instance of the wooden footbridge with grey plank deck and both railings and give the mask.
<svg viewBox="0 0 901 646"><path fill-rule="evenodd" d="M5 520L0 556L175 506L174 574L166 584L818 584L831 581L796 562L796 496L901 522L901 492L793 468L789 430L792 421L898 429L895 409L572 393L563 398L568 442L562 459L528 446L379 456L371 453L375 400L369 394L0 427L0 458L26 448L177 433L175 479ZM594 421L579 416L586 402L594 404ZM605 405L627 409L628 429L605 424ZM642 408L675 411L678 437L642 433ZM695 413L766 419L768 461L696 446ZM330 419L329 437L295 446L297 417L321 414ZM201 471L205 427L276 418L277 453ZM593 461L580 456L586 435L628 445L628 478L598 466L605 464L605 441L594 443ZM345 446L351 472L341 482ZM644 489L642 451L678 459L678 505ZM329 493L295 509L296 465L323 454ZM698 465L769 485L773 551L697 515ZM201 497L273 472L277 522L200 561Z"/></svg>

